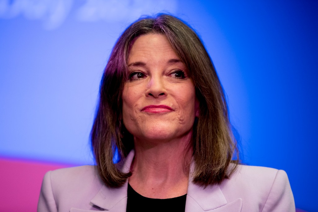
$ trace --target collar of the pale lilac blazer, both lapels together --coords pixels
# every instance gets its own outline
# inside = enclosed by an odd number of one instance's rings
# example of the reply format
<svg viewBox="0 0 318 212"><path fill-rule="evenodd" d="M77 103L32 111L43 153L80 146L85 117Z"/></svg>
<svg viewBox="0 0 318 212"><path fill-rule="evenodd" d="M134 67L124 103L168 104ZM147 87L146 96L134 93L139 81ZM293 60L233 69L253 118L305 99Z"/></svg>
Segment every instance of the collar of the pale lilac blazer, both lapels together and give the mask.
<svg viewBox="0 0 318 212"><path fill-rule="evenodd" d="M131 163L134 159L134 150L129 152L121 171L129 172ZM194 163L191 164L192 171ZM190 174L191 176L191 174ZM185 212L190 211L241 211L242 199L237 199L228 203L219 185L203 188L192 183L193 178L189 177L187 199L185 203ZM91 203L98 208L110 212L126 211L127 207L127 182L119 188L110 188L103 185L96 196L91 200Z"/></svg>

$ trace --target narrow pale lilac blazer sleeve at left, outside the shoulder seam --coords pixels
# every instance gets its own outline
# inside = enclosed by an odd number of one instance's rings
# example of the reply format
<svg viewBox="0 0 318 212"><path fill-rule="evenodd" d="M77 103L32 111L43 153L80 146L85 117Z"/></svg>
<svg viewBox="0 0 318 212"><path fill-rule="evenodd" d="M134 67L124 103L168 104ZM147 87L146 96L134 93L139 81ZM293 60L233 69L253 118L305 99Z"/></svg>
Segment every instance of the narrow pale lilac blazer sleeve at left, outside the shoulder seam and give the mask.
<svg viewBox="0 0 318 212"><path fill-rule="evenodd" d="M38 212L57 212L57 206L53 195L51 184L51 171L43 178L40 197L38 201Z"/></svg>

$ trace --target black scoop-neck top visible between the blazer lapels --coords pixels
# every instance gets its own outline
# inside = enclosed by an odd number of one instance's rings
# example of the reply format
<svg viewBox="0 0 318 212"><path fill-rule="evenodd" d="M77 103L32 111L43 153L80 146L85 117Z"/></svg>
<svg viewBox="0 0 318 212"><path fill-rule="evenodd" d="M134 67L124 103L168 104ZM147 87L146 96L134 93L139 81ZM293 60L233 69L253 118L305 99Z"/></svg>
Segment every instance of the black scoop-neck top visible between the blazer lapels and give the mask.
<svg viewBox="0 0 318 212"><path fill-rule="evenodd" d="M127 212L135 211L173 211L184 212L185 199L187 194L183 196L169 199L152 199L138 194L128 183L127 191Z"/></svg>

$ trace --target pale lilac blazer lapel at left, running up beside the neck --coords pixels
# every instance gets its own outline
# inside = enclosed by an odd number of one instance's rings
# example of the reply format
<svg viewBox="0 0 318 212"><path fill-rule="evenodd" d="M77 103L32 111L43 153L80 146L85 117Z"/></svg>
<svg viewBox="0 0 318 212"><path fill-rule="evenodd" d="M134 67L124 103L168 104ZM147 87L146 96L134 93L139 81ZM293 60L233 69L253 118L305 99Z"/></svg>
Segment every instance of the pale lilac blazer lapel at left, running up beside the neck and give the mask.
<svg viewBox="0 0 318 212"><path fill-rule="evenodd" d="M126 161L121 168L122 172L124 173L129 172L133 159L134 159L134 150L129 152L126 158ZM91 203L94 206L97 206L98 208L111 211L111 212L126 211L127 189L128 189L128 180L123 186L119 188L110 188L103 185L100 191L91 200Z"/></svg>

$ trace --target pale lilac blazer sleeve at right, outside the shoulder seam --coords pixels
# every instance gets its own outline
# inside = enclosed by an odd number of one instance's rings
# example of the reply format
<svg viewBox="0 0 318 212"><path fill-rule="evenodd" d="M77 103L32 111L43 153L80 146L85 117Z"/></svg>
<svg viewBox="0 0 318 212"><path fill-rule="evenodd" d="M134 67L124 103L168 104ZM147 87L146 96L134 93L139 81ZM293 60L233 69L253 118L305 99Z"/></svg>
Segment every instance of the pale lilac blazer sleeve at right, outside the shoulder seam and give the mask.
<svg viewBox="0 0 318 212"><path fill-rule="evenodd" d="M287 174L284 170L278 170L262 211L293 212L295 210L294 196Z"/></svg>

